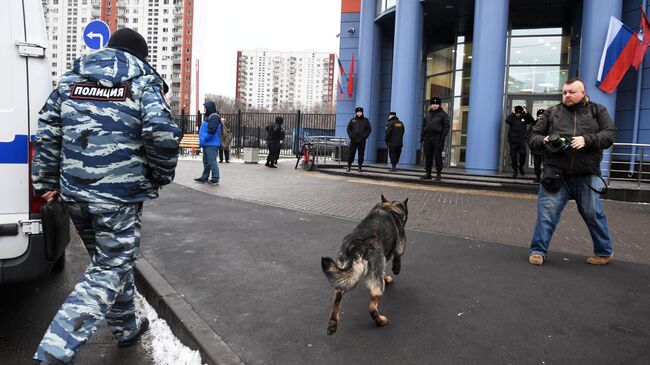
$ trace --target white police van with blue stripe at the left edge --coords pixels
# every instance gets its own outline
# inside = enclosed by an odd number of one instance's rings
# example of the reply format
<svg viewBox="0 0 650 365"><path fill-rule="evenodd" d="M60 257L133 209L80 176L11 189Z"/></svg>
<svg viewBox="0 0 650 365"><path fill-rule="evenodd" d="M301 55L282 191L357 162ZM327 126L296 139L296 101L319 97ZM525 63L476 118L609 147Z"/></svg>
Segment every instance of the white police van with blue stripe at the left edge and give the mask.
<svg viewBox="0 0 650 365"><path fill-rule="evenodd" d="M65 248L67 238L46 244L40 216L45 202L33 193L30 177L38 112L52 89L46 41L41 0L2 0L0 285L43 277L65 263L65 250L52 250L48 245ZM59 228L69 229L66 222Z"/></svg>

